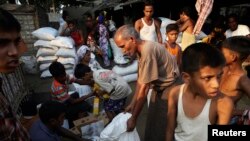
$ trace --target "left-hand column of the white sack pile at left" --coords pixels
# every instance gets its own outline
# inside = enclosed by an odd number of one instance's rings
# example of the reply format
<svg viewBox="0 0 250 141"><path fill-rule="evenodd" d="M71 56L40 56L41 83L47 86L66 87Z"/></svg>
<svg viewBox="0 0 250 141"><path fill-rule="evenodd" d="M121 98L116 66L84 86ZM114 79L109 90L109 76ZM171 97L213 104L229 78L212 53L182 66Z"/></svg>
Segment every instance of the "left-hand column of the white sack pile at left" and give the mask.
<svg viewBox="0 0 250 141"><path fill-rule="evenodd" d="M54 40L58 32L51 27L42 27L32 32L38 40L34 43L34 47L37 47L36 60L39 65L40 77L51 77L49 72L49 65L57 60L55 56L58 51L58 47L50 44L51 40Z"/></svg>

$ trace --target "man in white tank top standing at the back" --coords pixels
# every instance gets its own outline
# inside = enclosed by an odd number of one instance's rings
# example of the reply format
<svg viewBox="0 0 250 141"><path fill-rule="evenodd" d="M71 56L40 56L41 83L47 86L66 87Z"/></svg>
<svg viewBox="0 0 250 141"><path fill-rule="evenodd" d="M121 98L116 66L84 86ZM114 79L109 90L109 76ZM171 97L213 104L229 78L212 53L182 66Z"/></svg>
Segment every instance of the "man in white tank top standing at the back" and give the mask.
<svg viewBox="0 0 250 141"><path fill-rule="evenodd" d="M162 43L160 22L152 18L154 7L152 3L145 2L144 17L135 22L135 29L142 40Z"/></svg>

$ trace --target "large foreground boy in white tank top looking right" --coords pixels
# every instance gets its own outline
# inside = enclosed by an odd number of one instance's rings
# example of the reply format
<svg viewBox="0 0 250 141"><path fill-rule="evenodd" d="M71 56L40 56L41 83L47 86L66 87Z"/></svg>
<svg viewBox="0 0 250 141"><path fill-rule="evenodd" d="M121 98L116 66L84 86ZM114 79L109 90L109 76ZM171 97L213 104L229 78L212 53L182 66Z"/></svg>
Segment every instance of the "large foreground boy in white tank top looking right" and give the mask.
<svg viewBox="0 0 250 141"><path fill-rule="evenodd" d="M233 102L219 92L224 65L223 54L205 43L183 52L184 84L169 93L166 141L207 141L208 125L229 123Z"/></svg>

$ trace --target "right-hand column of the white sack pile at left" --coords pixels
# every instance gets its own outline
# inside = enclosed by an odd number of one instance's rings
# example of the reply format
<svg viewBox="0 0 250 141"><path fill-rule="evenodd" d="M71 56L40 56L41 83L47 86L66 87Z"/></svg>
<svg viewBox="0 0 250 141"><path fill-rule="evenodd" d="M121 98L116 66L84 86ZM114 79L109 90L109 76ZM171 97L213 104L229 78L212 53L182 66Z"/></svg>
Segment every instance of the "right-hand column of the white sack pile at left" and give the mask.
<svg viewBox="0 0 250 141"><path fill-rule="evenodd" d="M57 61L64 65L67 74L73 75L76 63L74 40L71 37L57 36L50 44L59 48L55 54L58 57Z"/></svg>

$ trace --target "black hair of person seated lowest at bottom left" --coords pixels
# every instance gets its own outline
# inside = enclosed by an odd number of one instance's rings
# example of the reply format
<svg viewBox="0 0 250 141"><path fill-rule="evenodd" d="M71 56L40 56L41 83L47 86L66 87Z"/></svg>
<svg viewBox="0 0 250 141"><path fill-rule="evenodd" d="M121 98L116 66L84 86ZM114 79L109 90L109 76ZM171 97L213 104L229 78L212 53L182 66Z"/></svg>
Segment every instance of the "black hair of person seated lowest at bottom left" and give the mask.
<svg viewBox="0 0 250 141"><path fill-rule="evenodd" d="M39 118L43 123L47 124L51 119L57 119L65 111L66 108L63 103L49 100L42 103L39 109Z"/></svg>

